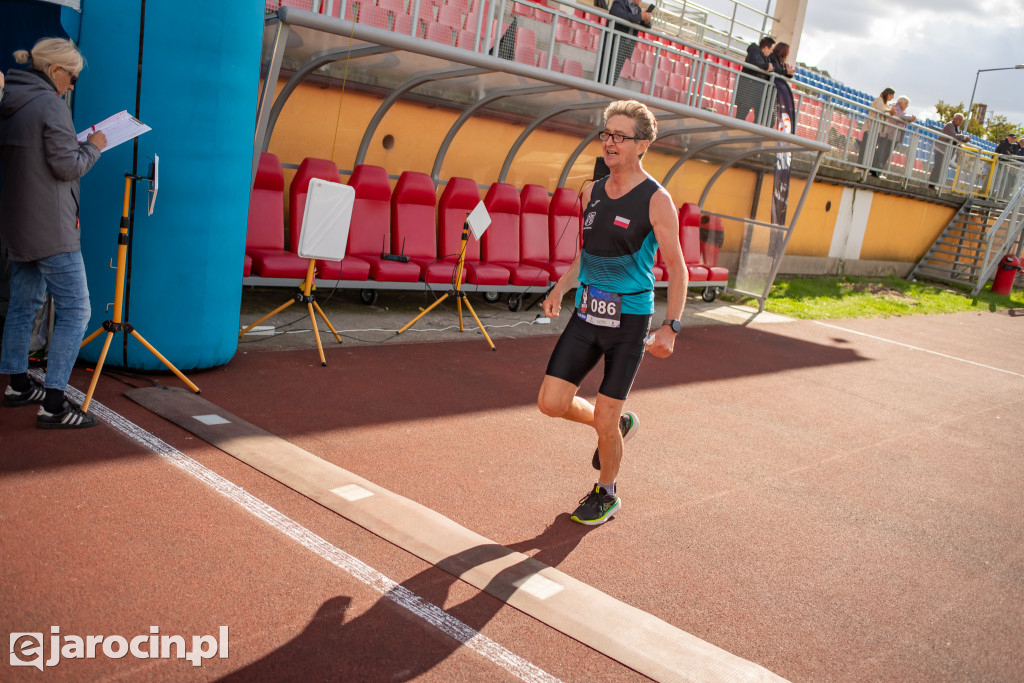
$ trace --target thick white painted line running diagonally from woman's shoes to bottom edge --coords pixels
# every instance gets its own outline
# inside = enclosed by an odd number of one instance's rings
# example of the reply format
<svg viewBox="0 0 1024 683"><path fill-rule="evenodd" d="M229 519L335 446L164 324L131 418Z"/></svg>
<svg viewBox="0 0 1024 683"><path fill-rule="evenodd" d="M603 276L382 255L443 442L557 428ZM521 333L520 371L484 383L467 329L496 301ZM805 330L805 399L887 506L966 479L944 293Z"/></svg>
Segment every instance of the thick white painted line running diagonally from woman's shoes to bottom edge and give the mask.
<svg viewBox="0 0 1024 683"><path fill-rule="evenodd" d="M33 373L36 375L37 380L40 382L43 381L44 376L40 371L34 370ZM71 385L68 386L67 393L73 400L79 403L85 398L85 395L81 391ZM248 512L270 524L307 550L319 555L338 568L347 571L352 577L382 594L388 600L404 607L442 633L452 636L477 654L490 659L510 674L530 683L534 681L537 683L558 682L559 679L537 665L523 659L515 652L506 649L472 627L463 624L437 605L424 600L404 586L388 579L369 564L331 545L291 517L274 510L246 489L228 481L205 465L198 463L102 403L96 400L91 401L89 403L89 413L123 432L137 443L153 451L161 458L193 475L218 494L238 503Z"/></svg>

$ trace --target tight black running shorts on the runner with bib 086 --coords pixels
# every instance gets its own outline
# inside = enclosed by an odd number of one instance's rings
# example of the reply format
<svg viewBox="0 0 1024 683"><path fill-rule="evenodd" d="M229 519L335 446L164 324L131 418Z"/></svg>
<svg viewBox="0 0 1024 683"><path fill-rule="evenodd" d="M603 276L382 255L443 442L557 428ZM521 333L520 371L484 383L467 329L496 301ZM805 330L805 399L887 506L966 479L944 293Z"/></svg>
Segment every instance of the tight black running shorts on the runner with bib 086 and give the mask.
<svg viewBox="0 0 1024 683"><path fill-rule="evenodd" d="M579 387L604 356L604 379L599 391L608 398L625 400L643 360L643 340L650 332L651 316L622 315L618 328L602 328L582 319L573 310L551 352L547 374Z"/></svg>

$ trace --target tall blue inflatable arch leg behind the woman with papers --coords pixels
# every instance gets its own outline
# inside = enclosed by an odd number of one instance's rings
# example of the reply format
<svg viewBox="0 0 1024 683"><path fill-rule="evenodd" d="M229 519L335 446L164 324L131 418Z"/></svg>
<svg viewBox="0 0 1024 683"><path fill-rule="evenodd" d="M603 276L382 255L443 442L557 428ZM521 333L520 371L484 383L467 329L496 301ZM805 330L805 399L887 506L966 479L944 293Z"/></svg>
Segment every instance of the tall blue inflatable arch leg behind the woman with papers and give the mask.
<svg viewBox="0 0 1024 683"><path fill-rule="evenodd" d="M126 173L160 157L156 211L138 182L125 319L182 371L230 360L238 348L262 0L84 3L76 88L82 130L122 110L153 128L104 152L82 180L82 251L92 332L110 319ZM82 350L95 360L103 335ZM129 335L115 336L112 367L165 370Z"/></svg>

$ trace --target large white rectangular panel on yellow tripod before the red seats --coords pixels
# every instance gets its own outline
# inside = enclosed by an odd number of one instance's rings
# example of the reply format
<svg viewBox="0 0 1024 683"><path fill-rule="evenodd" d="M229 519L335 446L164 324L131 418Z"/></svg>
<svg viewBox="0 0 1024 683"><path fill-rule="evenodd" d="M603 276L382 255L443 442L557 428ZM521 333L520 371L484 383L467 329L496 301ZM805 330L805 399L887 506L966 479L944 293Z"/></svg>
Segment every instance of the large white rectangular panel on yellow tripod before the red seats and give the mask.
<svg viewBox="0 0 1024 683"><path fill-rule="evenodd" d="M348 185L319 178L310 180L299 234L299 256L325 261L344 258L354 203L355 190Z"/></svg>

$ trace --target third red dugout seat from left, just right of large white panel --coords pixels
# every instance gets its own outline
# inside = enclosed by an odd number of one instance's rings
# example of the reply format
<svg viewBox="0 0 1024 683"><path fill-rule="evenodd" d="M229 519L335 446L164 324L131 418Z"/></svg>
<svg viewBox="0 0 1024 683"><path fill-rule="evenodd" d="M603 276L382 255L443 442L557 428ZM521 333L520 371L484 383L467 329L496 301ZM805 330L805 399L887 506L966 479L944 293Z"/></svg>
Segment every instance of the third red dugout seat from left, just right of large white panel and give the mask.
<svg viewBox="0 0 1024 683"><path fill-rule="evenodd" d="M387 171L380 166L360 164L352 171L348 184L355 190L355 203L346 253L370 264L371 280L385 283L419 281L419 265L381 257L384 253L400 251L400 245L392 247L391 244L391 183Z"/></svg>

